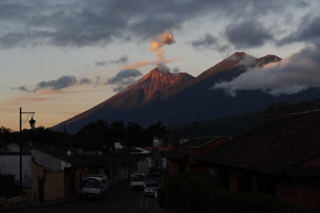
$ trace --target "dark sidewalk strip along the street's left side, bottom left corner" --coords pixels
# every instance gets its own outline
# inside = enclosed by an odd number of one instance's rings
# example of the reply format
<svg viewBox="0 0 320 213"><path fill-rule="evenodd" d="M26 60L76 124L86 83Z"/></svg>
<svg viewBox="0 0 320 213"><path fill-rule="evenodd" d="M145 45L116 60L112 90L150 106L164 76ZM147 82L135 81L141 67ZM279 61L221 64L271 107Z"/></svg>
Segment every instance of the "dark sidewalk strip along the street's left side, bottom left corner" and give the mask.
<svg viewBox="0 0 320 213"><path fill-rule="evenodd" d="M0 211L1 212L14 211L14 210L20 210L24 208L45 208L53 205L62 205L62 204L71 203L78 199L79 199L78 197L68 197L64 199L51 200L51 201L46 201L46 202L36 203L36 204L20 203L20 204L4 205L4 206L0 206Z"/></svg>

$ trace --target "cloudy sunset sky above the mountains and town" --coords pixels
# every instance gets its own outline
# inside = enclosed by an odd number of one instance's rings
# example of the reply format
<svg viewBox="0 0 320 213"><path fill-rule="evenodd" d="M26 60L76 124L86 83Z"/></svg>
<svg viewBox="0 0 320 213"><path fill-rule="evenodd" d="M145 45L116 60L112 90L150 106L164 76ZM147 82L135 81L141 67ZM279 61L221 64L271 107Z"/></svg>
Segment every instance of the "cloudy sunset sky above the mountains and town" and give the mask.
<svg viewBox="0 0 320 213"><path fill-rule="evenodd" d="M22 107L50 127L155 66L197 76L235 51L283 60L209 89L320 86L319 14L318 0L1 0L0 126L18 130Z"/></svg>

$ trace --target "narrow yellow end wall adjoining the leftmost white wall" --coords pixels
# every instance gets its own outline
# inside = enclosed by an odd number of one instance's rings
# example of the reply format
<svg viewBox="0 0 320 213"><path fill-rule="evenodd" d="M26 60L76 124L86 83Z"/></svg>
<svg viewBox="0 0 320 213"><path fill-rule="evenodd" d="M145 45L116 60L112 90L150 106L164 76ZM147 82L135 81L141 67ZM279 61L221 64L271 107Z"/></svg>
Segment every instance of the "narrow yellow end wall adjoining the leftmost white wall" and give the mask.
<svg viewBox="0 0 320 213"><path fill-rule="evenodd" d="M33 159L31 163L31 202L37 203L39 201L38 198L38 182L39 178L43 176L43 166L42 165L37 165Z"/></svg>

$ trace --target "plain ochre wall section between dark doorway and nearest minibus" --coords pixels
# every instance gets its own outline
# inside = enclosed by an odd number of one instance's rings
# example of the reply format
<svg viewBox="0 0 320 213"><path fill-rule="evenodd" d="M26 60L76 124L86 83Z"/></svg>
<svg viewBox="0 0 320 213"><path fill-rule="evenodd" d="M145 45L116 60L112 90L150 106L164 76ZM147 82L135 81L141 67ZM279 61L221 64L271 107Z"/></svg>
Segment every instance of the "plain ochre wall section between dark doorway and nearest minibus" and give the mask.
<svg viewBox="0 0 320 213"><path fill-rule="evenodd" d="M63 171L45 173L44 201L64 198Z"/></svg>

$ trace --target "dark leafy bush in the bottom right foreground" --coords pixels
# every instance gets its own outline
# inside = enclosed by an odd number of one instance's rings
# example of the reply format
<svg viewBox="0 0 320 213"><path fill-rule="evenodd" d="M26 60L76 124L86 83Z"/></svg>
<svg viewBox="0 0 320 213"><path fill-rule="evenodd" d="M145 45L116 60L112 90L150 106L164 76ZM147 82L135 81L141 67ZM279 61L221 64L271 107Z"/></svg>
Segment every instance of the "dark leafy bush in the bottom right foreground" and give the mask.
<svg viewBox="0 0 320 213"><path fill-rule="evenodd" d="M260 193L230 193L206 172L168 175L159 188L158 202L175 212L214 213L306 213L276 198ZM312 210L316 212L316 209Z"/></svg>

